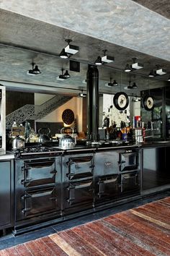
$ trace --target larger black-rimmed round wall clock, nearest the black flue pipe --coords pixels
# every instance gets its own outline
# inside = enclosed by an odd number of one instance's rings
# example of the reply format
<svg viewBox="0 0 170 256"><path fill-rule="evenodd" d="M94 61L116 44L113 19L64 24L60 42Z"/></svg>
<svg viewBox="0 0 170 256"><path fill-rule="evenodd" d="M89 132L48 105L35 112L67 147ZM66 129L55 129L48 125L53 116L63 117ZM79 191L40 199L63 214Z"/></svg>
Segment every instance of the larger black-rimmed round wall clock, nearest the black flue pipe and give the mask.
<svg viewBox="0 0 170 256"><path fill-rule="evenodd" d="M125 110L129 105L129 98L126 93L116 93L113 98L115 108L118 110Z"/></svg>

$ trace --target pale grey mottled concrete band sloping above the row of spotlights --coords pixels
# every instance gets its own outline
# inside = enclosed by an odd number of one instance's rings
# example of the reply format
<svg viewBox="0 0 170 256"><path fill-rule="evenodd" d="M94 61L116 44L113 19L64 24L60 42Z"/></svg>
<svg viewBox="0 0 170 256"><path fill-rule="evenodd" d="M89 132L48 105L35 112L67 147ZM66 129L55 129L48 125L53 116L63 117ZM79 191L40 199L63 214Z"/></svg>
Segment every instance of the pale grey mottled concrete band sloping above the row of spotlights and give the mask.
<svg viewBox="0 0 170 256"><path fill-rule="evenodd" d="M0 8L170 60L170 21L134 1L1 0Z"/></svg>

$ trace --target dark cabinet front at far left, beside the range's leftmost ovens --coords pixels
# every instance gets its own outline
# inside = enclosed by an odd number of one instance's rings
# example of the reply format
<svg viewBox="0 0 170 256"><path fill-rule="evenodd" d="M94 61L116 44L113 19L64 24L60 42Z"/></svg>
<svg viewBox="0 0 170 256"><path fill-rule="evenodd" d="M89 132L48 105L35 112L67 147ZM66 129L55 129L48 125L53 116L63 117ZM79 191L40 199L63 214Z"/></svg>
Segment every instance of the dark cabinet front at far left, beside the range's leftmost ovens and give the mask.
<svg viewBox="0 0 170 256"><path fill-rule="evenodd" d="M0 229L13 225L13 161L0 161Z"/></svg>

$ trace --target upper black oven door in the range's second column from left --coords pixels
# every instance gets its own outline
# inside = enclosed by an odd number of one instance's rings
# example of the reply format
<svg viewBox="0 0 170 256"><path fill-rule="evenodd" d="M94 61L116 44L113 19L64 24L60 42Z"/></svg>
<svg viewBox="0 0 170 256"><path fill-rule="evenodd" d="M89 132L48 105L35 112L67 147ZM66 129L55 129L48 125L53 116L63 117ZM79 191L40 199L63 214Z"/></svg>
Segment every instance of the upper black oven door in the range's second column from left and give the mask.
<svg viewBox="0 0 170 256"><path fill-rule="evenodd" d="M79 155L64 158L68 180L89 178L93 176L93 155Z"/></svg>

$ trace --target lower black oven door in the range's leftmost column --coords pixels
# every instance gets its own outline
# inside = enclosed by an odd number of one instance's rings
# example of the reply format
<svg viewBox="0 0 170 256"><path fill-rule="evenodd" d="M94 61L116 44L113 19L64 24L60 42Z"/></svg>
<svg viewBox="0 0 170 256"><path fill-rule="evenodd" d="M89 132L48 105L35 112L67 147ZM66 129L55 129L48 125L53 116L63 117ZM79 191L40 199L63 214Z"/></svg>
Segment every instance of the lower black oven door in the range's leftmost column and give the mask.
<svg viewBox="0 0 170 256"><path fill-rule="evenodd" d="M55 187L25 191L17 205L17 221L59 210Z"/></svg>

